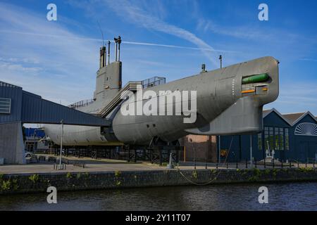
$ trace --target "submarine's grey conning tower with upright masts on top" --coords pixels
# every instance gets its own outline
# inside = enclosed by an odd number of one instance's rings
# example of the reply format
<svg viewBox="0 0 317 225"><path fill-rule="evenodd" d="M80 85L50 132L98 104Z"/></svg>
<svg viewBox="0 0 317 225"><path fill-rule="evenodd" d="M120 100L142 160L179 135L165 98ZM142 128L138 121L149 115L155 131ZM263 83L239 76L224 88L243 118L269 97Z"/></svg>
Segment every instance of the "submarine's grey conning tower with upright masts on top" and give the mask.
<svg viewBox="0 0 317 225"><path fill-rule="evenodd" d="M110 63L111 41L108 41L108 56L106 46L100 48L99 70L97 71L94 101L108 103L122 88L122 63L120 62L121 37L113 39L115 58Z"/></svg>

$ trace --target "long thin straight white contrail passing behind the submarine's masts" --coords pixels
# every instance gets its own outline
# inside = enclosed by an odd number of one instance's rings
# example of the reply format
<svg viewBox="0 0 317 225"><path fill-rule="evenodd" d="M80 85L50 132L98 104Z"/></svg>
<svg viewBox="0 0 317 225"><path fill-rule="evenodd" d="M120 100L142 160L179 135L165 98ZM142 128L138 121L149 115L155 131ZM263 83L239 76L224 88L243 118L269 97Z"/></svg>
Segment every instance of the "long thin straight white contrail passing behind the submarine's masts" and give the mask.
<svg viewBox="0 0 317 225"><path fill-rule="evenodd" d="M61 36L55 34L40 34L40 33L33 33L33 32L19 32L19 31L11 31L11 30L0 30L2 33L11 33L11 34L25 34L25 35L36 35L36 36L43 36L43 37L54 37L54 38L67 38L67 39L79 39L79 40L87 40L87 41L102 41L102 39L94 39L89 37L70 37L70 36ZM107 40L114 42L112 40ZM227 52L227 53L237 53L237 51L228 51L228 50L220 50L220 49L208 49L208 48L195 48L189 46L177 46L177 45L170 45L170 44L156 44L156 43L149 43L149 42L137 42L137 41L122 41L123 44L134 44L134 45L144 45L144 46L159 46L159 47L166 47L166 48L174 48L174 49L191 49L191 50L204 50L204 51L216 51L216 52Z"/></svg>

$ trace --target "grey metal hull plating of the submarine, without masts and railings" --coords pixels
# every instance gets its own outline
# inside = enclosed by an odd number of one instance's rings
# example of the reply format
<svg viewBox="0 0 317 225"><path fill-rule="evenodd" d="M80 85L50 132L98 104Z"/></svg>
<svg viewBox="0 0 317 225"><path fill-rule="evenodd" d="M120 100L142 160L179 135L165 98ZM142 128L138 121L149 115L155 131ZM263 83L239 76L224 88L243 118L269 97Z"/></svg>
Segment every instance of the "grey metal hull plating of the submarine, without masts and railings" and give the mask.
<svg viewBox="0 0 317 225"><path fill-rule="evenodd" d="M120 83L121 66L121 62L113 62L108 65L107 72L99 71L95 91L95 95L97 95L95 96L96 103L78 110L87 113L98 113L104 105L111 101L109 96L113 97L120 90L120 86L116 85L117 82ZM100 86L98 79L107 77L108 80L108 76L111 76L114 88L109 90L107 96L103 91L98 91L98 85ZM264 78L258 79L260 76ZM109 82L107 85L111 86L111 81ZM197 75L166 84L147 87L142 91L151 91L151 94L155 93L155 96L152 95L151 98L147 99L137 99L137 93L134 92L132 95L134 95L135 105L139 104L144 107L149 105L149 101L152 101L152 103L157 101L157 105L159 105L158 115L125 115L121 107L126 107L128 101L123 101L106 117L106 119L112 121L111 127L64 126L63 145L148 145L154 137L162 141L175 141L187 134L258 133L263 128L263 105L278 98L278 82L278 60L267 56L218 70L203 71ZM191 93L191 91L196 91L196 120L194 122L184 122L184 118L189 116L181 112L182 110L177 112L178 104L184 103L184 99L182 99L182 103L165 101L163 105L160 105L159 97L162 91L166 92L166 98L168 98L170 92L179 91L184 93L184 91L187 91ZM103 95L101 96L101 94ZM194 98L194 95L188 95L187 104L189 106L192 106L191 103L194 101L192 98ZM163 115L159 115L159 107L163 107L163 110L165 110ZM168 115L169 107L173 108L173 115ZM61 126L45 125L44 129L52 141L59 143Z"/></svg>

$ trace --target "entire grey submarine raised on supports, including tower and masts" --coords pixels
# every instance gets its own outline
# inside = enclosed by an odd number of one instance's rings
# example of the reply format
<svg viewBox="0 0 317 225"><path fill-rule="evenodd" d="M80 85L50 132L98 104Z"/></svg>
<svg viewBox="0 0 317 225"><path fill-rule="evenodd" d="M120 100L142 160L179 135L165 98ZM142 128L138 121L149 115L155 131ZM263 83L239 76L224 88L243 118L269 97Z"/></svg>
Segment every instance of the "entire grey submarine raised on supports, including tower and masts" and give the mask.
<svg viewBox="0 0 317 225"><path fill-rule="evenodd" d="M197 75L172 82L154 77L122 86L120 36L114 42L113 62L111 42L108 55L106 46L100 48L93 99L68 105L111 125L63 125L64 146L147 146L188 134L255 134L263 129L263 105L278 98L279 62L271 56L212 71L202 67ZM44 124L44 131L54 143L61 142L60 125Z"/></svg>

